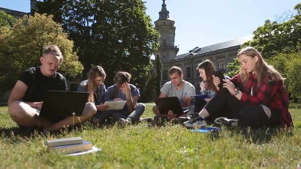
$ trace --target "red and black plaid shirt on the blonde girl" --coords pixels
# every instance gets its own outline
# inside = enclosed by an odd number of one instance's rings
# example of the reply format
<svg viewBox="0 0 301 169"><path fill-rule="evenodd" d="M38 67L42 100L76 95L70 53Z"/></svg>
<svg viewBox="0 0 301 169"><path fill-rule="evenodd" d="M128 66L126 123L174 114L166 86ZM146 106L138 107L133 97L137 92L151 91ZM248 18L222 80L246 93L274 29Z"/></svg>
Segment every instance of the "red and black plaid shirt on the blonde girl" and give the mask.
<svg viewBox="0 0 301 169"><path fill-rule="evenodd" d="M262 86L259 87L255 74L250 73L248 81L243 85L239 74L234 76L231 81L242 92L240 101L246 105L263 104L270 109L281 110L281 127L293 126L293 120L288 111L288 97L283 86L283 81L273 81L267 83L265 80ZM251 89L253 88L253 96L251 96Z"/></svg>

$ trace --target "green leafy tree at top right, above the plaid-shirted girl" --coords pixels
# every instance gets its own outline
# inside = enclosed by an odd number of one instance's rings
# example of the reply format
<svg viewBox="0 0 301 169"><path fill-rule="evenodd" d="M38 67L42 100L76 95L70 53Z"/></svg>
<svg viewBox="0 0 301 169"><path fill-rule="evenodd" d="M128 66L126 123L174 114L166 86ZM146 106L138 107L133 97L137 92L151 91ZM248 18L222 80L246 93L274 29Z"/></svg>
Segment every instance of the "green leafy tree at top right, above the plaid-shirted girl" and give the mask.
<svg viewBox="0 0 301 169"><path fill-rule="evenodd" d="M297 52L301 42L301 3L294 7L295 14L285 22L266 20L263 26L253 32L252 41L242 45L253 46L264 58L275 57L278 53Z"/></svg>

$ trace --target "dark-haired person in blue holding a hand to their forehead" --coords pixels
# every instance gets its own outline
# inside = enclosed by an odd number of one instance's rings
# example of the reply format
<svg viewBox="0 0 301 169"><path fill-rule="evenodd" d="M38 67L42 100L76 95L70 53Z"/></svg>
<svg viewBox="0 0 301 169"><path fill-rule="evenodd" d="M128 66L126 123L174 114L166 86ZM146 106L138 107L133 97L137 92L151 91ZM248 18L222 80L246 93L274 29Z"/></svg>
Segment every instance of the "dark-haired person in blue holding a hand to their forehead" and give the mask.
<svg viewBox="0 0 301 169"><path fill-rule="evenodd" d="M93 122L104 124L111 117L111 122L117 122L119 126L139 122L144 112L145 105L137 103L140 93L138 88L130 84L131 74L128 72L117 72L114 77L115 85L109 87L106 92L106 101L127 101L122 110L106 110Z"/></svg>

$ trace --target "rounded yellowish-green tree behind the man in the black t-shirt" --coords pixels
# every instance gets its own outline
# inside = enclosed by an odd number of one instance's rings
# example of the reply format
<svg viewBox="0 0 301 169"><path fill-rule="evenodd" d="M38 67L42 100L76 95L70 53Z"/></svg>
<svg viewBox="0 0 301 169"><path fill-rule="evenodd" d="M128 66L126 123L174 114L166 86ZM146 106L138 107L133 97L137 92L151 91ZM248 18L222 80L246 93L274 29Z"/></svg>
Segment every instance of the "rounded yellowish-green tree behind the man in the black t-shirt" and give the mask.
<svg viewBox="0 0 301 169"><path fill-rule="evenodd" d="M57 44L63 53L61 73L66 77L82 73L83 66L73 51L73 42L67 39L67 34L52 16L24 16L11 30L1 27L0 32L1 89L11 89L24 69L39 66L41 51L49 44Z"/></svg>

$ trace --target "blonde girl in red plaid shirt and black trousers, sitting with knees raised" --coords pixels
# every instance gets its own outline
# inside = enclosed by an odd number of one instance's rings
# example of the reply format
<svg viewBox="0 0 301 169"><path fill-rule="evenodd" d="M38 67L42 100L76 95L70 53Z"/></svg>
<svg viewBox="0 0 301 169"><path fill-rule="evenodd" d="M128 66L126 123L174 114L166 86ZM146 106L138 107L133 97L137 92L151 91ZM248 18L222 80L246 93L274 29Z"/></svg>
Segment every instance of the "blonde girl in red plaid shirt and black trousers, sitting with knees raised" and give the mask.
<svg viewBox="0 0 301 169"><path fill-rule="evenodd" d="M267 65L253 47L242 49L238 60L241 64L239 74L230 80L223 79L223 89L218 89L220 79L213 76L219 92L197 117L184 125L192 127L197 121L220 115L223 117L215 119L215 123L229 127L293 126L281 74Z"/></svg>

